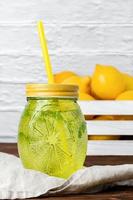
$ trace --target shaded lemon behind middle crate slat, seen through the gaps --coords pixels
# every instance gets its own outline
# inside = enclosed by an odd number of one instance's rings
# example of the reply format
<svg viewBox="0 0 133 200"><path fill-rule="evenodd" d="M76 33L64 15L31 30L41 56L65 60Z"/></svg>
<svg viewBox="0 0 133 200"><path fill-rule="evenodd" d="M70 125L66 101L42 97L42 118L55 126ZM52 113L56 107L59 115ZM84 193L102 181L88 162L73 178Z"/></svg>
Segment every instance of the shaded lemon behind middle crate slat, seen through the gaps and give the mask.
<svg viewBox="0 0 133 200"><path fill-rule="evenodd" d="M94 120L113 120L113 116L105 115L96 117ZM89 135L89 140L118 140L120 136L118 135Z"/></svg>

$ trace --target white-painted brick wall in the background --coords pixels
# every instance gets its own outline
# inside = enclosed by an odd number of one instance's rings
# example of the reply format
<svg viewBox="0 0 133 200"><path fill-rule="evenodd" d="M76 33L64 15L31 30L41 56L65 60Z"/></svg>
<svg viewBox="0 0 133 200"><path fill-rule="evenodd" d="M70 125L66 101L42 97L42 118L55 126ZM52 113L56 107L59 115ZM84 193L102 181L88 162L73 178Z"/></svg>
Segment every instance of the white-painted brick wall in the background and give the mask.
<svg viewBox="0 0 133 200"><path fill-rule="evenodd" d="M45 23L54 72L96 63L133 72L132 0L0 1L0 137L14 136L24 84L44 82L36 22Z"/></svg>

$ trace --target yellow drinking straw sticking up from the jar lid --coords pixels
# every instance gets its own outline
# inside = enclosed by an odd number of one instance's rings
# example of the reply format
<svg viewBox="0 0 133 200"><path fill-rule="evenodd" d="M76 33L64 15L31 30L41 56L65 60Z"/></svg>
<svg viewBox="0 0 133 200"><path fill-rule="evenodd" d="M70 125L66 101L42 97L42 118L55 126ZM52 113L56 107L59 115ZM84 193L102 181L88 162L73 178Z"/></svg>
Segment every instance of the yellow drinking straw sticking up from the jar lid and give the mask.
<svg viewBox="0 0 133 200"><path fill-rule="evenodd" d="M48 83L53 84L54 76L52 73L52 65L51 65L50 56L48 53L47 41L46 41L44 26L43 26L42 21L38 22L38 33L39 33L39 38L40 38L40 43L41 43L43 61L45 64L46 73L47 73L47 77L48 77Z"/></svg>

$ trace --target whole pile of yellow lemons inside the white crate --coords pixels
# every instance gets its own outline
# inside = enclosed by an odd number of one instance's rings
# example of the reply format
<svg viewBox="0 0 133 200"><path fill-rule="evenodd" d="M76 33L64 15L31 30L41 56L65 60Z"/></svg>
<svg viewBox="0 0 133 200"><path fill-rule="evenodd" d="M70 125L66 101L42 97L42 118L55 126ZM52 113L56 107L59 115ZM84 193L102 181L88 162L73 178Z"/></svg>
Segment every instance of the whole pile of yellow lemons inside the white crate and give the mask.
<svg viewBox="0 0 133 200"><path fill-rule="evenodd" d="M54 75L55 83L79 86L80 100L133 100L133 76L116 67L97 64L92 76L72 71ZM133 116L85 116L92 120L133 120ZM119 136L89 136L93 140L119 139Z"/></svg>

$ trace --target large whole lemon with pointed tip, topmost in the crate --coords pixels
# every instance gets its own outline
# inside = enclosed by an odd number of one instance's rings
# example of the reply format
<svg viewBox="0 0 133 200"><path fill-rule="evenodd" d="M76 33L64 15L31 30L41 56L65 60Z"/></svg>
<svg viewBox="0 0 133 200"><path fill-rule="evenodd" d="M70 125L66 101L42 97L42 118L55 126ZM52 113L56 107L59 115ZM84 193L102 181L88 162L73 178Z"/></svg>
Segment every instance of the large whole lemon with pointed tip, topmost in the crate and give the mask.
<svg viewBox="0 0 133 200"><path fill-rule="evenodd" d="M91 81L91 92L99 99L115 99L125 91L122 74L113 66L96 65Z"/></svg>

